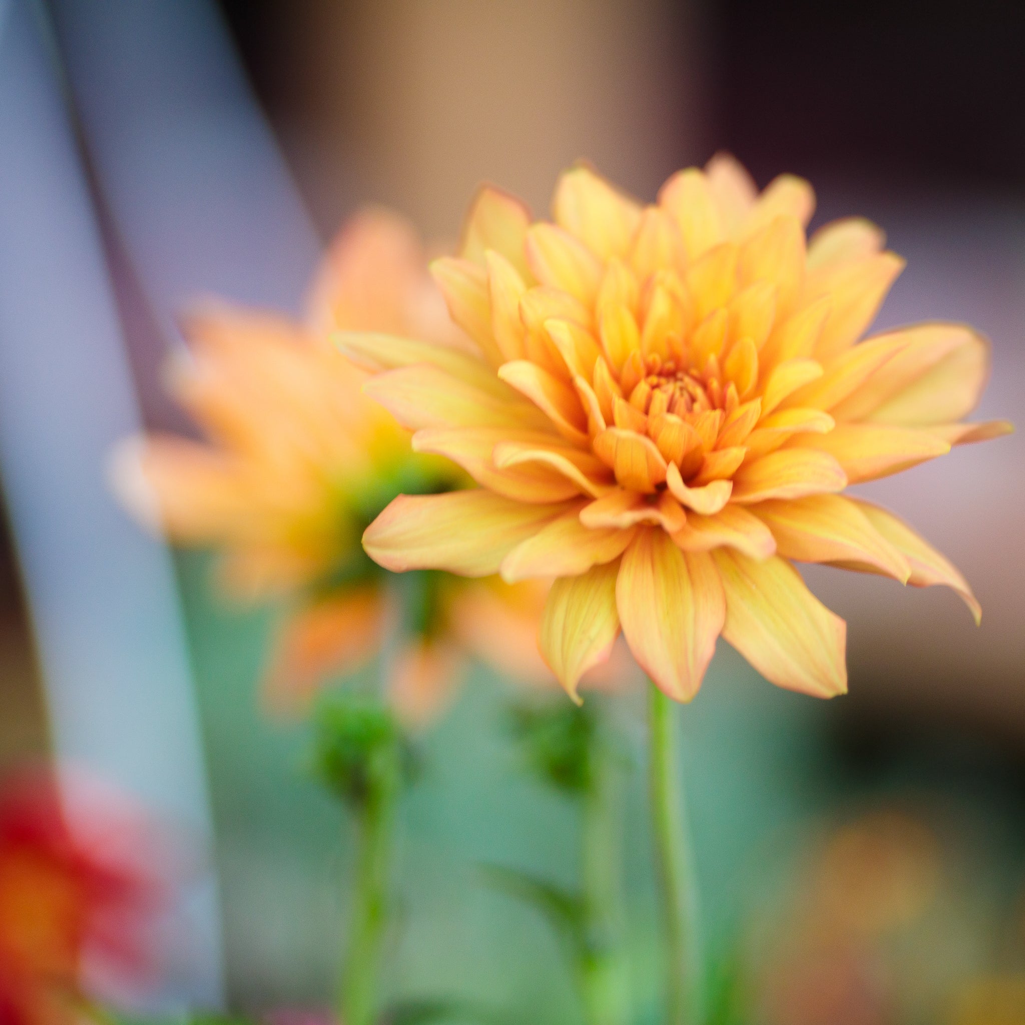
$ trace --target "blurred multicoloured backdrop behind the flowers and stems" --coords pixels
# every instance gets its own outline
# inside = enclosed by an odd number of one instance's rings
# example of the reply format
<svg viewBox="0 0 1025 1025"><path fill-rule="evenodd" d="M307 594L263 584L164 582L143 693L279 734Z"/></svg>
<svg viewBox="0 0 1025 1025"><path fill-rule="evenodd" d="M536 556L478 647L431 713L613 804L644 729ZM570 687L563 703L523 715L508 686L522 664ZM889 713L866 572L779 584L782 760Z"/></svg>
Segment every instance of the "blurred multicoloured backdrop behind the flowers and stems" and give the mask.
<svg viewBox="0 0 1025 1025"><path fill-rule="evenodd" d="M366 202L444 243L482 180L542 212L585 157L647 199L726 149L762 186L810 178L815 223L880 223L908 266L877 326L986 332L980 418L1020 425L1023 46L1025 8L995 0L0 0L0 766L95 764L209 852L165 1001L324 1004L352 839L311 781L304 728L258 707L273 610L220 604L205 557L170 561L107 497L112 441L188 429L159 370L181 309L216 293L297 310ZM721 645L683 716L712 945L755 948L777 988L858 994L843 1022L952 1021L973 987L1021 985L1023 466L1018 435L864 488L962 569L980 628L940 588L809 572L849 622L850 695L776 691ZM424 738L393 984L577 1021L546 924L479 871L575 877L575 811L524 773L512 697L478 667ZM616 714L644 1009L639 701ZM875 951L867 970L790 979L844 929ZM872 1017L883 1004L899 1015ZM842 1025L799 1008L788 1025Z"/></svg>

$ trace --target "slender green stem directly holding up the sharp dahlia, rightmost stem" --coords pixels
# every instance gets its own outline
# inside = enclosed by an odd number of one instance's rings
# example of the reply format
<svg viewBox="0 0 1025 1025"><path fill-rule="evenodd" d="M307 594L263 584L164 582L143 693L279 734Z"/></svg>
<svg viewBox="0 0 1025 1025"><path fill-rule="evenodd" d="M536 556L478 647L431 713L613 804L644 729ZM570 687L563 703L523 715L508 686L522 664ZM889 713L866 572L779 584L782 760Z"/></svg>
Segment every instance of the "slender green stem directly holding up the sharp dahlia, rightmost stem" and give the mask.
<svg viewBox="0 0 1025 1025"><path fill-rule="evenodd" d="M648 782L668 976L665 1021L666 1025L700 1025L703 994L698 892L688 842L674 710L675 702L652 686Z"/></svg>

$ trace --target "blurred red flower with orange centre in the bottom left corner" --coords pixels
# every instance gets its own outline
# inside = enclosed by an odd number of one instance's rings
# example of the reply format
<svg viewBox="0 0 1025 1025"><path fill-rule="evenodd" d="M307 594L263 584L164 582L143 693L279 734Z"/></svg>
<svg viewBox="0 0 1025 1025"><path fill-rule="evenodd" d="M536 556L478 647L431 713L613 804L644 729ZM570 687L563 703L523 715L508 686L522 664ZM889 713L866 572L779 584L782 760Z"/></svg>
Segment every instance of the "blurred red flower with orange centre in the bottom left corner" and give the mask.
<svg viewBox="0 0 1025 1025"><path fill-rule="evenodd" d="M0 792L4 1025L80 1020L87 955L135 982L153 972L149 931L165 894L145 828L94 790L73 792L74 820L50 776L19 777Z"/></svg>

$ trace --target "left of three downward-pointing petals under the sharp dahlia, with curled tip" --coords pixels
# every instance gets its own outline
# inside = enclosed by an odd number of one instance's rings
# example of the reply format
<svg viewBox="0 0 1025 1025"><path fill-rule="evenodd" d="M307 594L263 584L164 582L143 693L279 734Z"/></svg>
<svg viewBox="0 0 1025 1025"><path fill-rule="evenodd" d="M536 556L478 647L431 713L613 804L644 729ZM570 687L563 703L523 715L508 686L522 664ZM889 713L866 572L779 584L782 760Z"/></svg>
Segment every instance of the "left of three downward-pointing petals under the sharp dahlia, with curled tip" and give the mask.
<svg viewBox="0 0 1025 1025"><path fill-rule="evenodd" d="M560 577L544 604L538 646L549 668L580 703L577 684L604 662L619 636L616 612L617 562L594 566L580 576Z"/></svg>

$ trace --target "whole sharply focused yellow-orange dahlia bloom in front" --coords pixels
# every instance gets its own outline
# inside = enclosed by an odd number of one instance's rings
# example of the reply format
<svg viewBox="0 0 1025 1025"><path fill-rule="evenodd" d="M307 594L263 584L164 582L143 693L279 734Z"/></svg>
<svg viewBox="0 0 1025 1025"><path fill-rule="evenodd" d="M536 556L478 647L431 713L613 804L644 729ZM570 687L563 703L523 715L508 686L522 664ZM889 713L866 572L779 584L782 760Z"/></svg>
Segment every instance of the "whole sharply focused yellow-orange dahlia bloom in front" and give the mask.
<svg viewBox="0 0 1025 1025"><path fill-rule="evenodd" d="M985 339L928 323L859 342L903 261L860 219L806 243L814 196L714 158L642 206L584 166L554 222L485 189L436 280L476 354L344 334L364 391L480 488L398 497L364 535L402 571L555 577L540 626L573 696L620 630L669 696L722 633L768 680L847 688L846 624L793 561L953 587L960 574L857 484L1006 433L963 423Z"/></svg>

